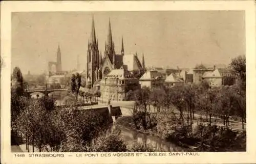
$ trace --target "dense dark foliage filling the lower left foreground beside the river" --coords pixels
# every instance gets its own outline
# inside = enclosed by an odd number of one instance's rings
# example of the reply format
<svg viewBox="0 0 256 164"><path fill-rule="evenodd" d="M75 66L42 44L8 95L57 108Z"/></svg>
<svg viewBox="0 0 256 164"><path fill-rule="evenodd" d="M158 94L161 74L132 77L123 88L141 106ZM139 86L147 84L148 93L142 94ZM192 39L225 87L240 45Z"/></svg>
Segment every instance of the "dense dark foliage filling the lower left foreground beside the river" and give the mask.
<svg viewBox="0 0 256 164"><path fill-rule="evenodd" d="M152 150L137 144L127 147L119 134L110 132L112 120L108 111L82 111L74 106L56 108L54 99L49 97L28 99L13 122L15 131L23 134L26 145L33 146L29 151L33 152L34 147L39 152Z"/></svg>

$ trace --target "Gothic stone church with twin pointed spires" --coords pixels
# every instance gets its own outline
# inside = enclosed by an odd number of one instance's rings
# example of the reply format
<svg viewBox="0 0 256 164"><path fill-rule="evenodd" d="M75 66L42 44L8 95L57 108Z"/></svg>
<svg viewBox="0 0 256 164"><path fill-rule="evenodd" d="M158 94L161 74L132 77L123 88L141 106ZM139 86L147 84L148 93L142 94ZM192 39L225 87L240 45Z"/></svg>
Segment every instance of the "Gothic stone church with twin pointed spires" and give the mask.
<svg viewBox="0 0 256 164"><path fill-rule="evenodd" d="M92 30L87 51L87 84L90 84L90 86L99 84L99 81L108 77L107 75L113 70L122 70L125 74L129 74L127 77L139 79L145 73L144 54L142 62L138 59L137 52L136 54L125 54L123 38L121 40L120 54L116 54L109 20L108 36L106 37L105 51L102 57L98 49L94 17L92 17Z"/></svg>

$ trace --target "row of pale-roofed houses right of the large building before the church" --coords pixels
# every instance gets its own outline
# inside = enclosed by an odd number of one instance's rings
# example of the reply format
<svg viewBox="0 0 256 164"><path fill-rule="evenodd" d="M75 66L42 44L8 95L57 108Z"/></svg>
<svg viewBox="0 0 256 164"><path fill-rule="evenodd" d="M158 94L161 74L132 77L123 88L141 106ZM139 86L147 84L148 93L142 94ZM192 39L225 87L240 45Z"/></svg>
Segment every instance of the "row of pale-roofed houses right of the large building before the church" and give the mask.
<svg viewBox="0 0 256 164"><path fill-rule="evenodd" d="M184 83L200 84L205 80L210 86L219 87L225 85L225 77L231 76L231 70L228 68L206 68L201 64L193 69L166 69L165 74L156 70L147 71L139 79L139 83L141 87L153 88L163 83L174 86Z"/></svg>

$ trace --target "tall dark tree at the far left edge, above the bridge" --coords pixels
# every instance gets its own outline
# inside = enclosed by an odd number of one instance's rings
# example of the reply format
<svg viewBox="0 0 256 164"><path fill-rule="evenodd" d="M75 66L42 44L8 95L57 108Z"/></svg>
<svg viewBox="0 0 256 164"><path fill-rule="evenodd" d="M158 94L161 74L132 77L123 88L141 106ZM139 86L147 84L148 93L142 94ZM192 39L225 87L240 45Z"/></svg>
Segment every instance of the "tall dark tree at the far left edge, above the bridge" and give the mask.
<svg viewBox="0 0 256 164"><path fill-rule="evenodd" d="M11 90L12 92L15 92L18 96L21 96L24 94L24 79L22 72L18 67L15 67L12 72L12 86Z"/></svg>

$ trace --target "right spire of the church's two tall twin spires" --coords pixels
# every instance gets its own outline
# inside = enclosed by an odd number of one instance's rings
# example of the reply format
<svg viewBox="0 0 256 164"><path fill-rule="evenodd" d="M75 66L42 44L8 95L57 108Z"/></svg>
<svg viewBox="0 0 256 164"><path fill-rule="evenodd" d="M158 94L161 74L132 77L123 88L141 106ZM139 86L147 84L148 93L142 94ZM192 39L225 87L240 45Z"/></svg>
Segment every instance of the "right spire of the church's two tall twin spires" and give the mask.
<svg viewBox="0 0 256 164"><path fill-rule="evenodd" d="M105 43L105 56L109 56L111 62L114 61L113 57L115 56L115 44L112 40L110 19L109 19L108 37L106 38L106 43Z"/></svg>

